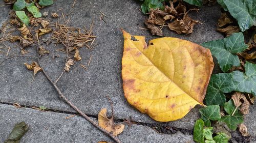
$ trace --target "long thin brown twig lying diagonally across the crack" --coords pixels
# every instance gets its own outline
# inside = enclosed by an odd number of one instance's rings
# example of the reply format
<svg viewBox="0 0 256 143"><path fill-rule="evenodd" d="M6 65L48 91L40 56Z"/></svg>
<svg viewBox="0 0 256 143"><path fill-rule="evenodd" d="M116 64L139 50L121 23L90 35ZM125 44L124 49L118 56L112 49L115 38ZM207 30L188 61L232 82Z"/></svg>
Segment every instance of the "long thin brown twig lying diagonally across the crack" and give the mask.
<svg viewBox="0 0 256 143"><path fill-rule="evenodd" d="M33 39L34 36L32 35ZM35 41L35 39L34 39ZM37 55L39 55L39 47L36 44L36 49L37 49ZM39 57L37 56L37 62L38 65L40 66L40 60ZM41 67L41 66L40 66ZM88 117L85 113L83 113L78 107L76 107L71 101L69 101L69 99L62 94L62 92L60 91L60 89L57 87L57 85L53 82L53 80L49 77L49 75L46 73L46 71L44 70L44 68L42 68L42 73L44 73L44 75L46 76L46 78L52 83L53 87L56 89L56 91L58 92L59 96L61 98L63 98L73 109L75 109L78 113L80 113L80 115L85 118L87 121L89 121L91 124L93 124L96 128L98 128L100 131L102 131L103 133L105 133L106 135L109 135L112 139L114 139L117 143L121 143L121 141L114 136L112 133L106 131L105 129L101 128L96 122L94 122L90 117Z"/></svg>

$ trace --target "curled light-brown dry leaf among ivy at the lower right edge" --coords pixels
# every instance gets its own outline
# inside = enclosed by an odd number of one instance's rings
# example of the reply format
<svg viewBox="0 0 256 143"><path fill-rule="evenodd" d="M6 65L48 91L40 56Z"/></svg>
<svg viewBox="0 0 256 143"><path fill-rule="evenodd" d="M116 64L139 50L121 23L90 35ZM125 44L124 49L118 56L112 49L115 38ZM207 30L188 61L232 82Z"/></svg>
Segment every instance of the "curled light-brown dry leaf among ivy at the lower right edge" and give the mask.
<svg viewBox="0 0 256 143"><path fill-rule="evenodd" d="M245 115L245 114L248 114L249 113L249 106L250 106L250 103L249 101L246 99L245 95L244 94L241 94L240 92L235 92L231 99L234 101L234 105L236 107L239 107L239 110L240 112ZM243 102L242 102L242 101Z"/></svg>

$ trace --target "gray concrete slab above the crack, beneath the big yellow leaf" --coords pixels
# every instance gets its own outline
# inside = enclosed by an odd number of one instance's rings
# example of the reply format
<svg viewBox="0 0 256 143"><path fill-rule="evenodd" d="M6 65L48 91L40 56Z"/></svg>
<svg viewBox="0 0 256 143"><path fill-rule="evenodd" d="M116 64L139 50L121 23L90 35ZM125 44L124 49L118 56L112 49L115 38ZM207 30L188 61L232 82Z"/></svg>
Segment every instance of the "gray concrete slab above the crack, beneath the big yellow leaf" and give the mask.
<svg viewBox="0 0 256 143"><path fill-rule="evenodd" d="M92 20L94 20L93 33L97 36L95 43L98 45L93 51L89 51L86 48L80 49L82 61L77 62L71 71L65 73L58 82L63 94L89 115L97 115L98 111L104 107L110 109L109 102L105 98L105 95L108 95L113 101L115 117L118 119L132 117L137 122L168 124L177 128L193 129L195 120L199 118L199 106L191 110L181 120L159 123L140 113L129 105L124 98L121 80L123 37L120 28L124 28L124 30L133 35L146 36L147 41L157 38L156 36L151 36L148 31L138 28L138 26L143 27L143 21L147 17L137 10L140 8L140 4L133 0L105 0L102 2L93 0L77 1L75 7L71 8L72 4L73 1L56 1L52 6L41 10L41 12L57 12L59 15L61 15L61 12L68 14L74 10L69 15L69 25L74 27L89 27ZM3 1L0 1L0 5L3 5ZM61 8L64 9L56 11ZM10 7L4 6L1 9L7 12ZM107 23L99 20L100 11L108 16L108 18L105 18ZM196 43L221 39L223 36L216 32L216 25L213 24L217 22L220 15L221 9L219 6L204 6L199 12L192 11L190 13L191 17L200 20L202 23L195 26L194 33L191 35L177 35L175 32L167 30L167 27L164 27L164 36L178 37ZM0 18L0 21L5 20L2 17ZM54 20L56 21L56 19ZM14 47L16 44L5 44L13 47L10 53L19 53L19 48ZM55 80L62 72L66 55L55 51L57 48L63 48L61 46L54 47L54 44L50 44L46 48L51 53L41 59L42 67ZM31 51L31 55L35 53L33 47L27 50ZM54 55L59 55L60 58L53 59ZM84 70L79 64L86 65L90 55L92 55L92 61L89 69ZM0 54L0 61L4 59L6 59L6 56ZM32 61L33 59L31 58L14 58L0 66L0 86L2 87L0 88L0 101L74 111L58 97L57 92L41 72L36 75L35 80L31 83L32 72L28 71L23 64ZM214 73L217 72L219 72L219 69L215 68Z"/></svg>

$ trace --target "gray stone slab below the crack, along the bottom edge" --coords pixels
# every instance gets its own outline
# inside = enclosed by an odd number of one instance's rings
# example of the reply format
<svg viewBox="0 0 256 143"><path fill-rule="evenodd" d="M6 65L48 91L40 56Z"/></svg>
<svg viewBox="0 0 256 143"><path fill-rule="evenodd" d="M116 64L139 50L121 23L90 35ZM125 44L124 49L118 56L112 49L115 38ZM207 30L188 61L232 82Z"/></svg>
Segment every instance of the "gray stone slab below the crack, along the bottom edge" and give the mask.
<svg viewBox="0 0 256 143"><path fill-rule="evenodd" d="M88 121L81 117L73 117L65 113L38 111L30 108L16 108L11 105L0 104L0 142L8 137L16 123L25 121L29 131L23 136L20 143L26 142L98 142L111 141ZM176 134L158 134L153 129L132 125L125 126L118 135L122 142L194 142L193 136L177 132Z"/></svg>

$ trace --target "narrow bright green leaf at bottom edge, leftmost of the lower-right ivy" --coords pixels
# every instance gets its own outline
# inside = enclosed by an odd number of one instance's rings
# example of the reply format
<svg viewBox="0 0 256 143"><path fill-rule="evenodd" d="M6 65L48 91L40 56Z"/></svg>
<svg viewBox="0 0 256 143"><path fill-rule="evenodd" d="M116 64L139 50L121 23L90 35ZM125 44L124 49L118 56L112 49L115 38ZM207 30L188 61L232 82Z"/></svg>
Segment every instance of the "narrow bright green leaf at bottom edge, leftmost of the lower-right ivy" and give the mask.
<svg viewBox="0 0 256 143"><path fill-rule="evenodd" d="M203 127L204 121L202 119L198 119L195 123L193 139L200 143L204 143Z"/></svg>

